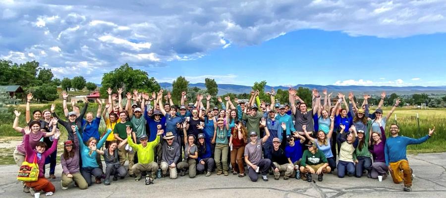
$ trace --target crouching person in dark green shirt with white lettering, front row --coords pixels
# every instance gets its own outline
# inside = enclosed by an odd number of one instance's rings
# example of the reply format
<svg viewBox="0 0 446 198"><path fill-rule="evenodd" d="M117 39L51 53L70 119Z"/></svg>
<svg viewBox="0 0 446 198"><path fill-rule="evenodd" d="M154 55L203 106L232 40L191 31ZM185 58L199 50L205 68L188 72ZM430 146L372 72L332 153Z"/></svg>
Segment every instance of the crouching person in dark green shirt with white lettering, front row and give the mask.
<svg viewBox="0 0 446 198"><path fill-rule="evenodd" d="M305 150L300 161L300 172L306 174L307 182L311 182L311 174L318 175L318 181L322 182L324 173L330 172L332 169L328 164L325 154L320 151L315 145L314 141L309 141L305 146Z"/></svg>

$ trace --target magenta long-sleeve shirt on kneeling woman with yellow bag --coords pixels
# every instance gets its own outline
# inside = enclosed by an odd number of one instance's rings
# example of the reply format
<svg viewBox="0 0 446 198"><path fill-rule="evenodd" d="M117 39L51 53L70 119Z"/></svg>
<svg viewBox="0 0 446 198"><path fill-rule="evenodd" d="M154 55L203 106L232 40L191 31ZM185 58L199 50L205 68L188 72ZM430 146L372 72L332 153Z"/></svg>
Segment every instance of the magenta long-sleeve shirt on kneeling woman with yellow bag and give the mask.
<svg viewBox="0 0 446 198"><path fill-rule="evenodd" d="M25 160L28 163L33 163L34 157L36 157L37 164L39 165L39 178L45 177L44 172L43 172L43 167L45 166L45 158L47 158L47 156L49 156L51 153L53 153L57 149L57 141L58 140L55 139L53 146L51 146L51 148L49 148L48 150L42 152L42 155L39 158L37 151L33 150L33 148L31 148L31 145L29 144L29 135L25 135L25 137L23 137L23 139L24 139L24 143L25 143L25 152L26 152Z"/></svg>

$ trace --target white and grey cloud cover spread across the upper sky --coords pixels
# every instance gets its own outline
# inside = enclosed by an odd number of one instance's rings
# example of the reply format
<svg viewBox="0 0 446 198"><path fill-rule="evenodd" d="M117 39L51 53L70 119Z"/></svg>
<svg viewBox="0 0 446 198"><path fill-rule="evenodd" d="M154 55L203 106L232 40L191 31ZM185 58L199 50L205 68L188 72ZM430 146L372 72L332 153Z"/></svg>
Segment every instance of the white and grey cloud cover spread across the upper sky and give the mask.
<svg viewBox="0 0 446 198"><path fill-rule="evenodd" d="M0 11L0 57L60 70L86 61L98 68L91 77L120 61L195 60L302 29L382 38L446 32L443 0L1 0Z"/></svg>

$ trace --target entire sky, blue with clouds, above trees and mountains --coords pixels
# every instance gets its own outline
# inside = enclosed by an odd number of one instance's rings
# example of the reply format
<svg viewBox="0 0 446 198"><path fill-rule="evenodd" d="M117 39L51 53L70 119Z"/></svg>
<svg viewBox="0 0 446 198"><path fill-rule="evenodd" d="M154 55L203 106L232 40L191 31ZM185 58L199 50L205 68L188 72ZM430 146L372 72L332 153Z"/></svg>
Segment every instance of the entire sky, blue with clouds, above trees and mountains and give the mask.
<svg viewBox="0 0 446 198"><path fill-rule="evenodd" d="M445 16L442 0L2 0L0 58L95 83L128 62L159 82L444 86Z"/></svg>

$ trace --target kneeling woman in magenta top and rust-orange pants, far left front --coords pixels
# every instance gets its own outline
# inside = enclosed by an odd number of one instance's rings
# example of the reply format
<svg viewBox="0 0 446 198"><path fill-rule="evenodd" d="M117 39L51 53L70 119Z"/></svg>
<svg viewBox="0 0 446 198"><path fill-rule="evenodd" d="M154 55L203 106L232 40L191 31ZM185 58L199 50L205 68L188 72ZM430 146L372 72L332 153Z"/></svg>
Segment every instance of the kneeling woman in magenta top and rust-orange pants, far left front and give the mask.
<svg viewBox="0 0 446 198"><path fill-rule="evenodd" d="M35 125L33 125L32 127L34 127ZM40 126L39 126L40 127ZM54 128L53 132L55 131L56 127ZM60 136L60 131L57 132L54 135L54 144L53 146L45 151L45 148L47 147L47 144L45 144L44 142L38 142L35 149L34 150L31 147L30 144L30 134L31 129L27 126L23 129L24 131L24 137L23 137L23 143L24 143L24 148L25 148L25 153L26 153L26 161L28 163L33 163L34 161L37 162L38 167L39 167L39 178L37 179L37 181L33 181L33 182L25 182L25 185L30 188L30 193L32 196L34 196L35 192L40 192L40 191L44 191L47 196L51 196L53 195L54 192L56 192L56 188L54 187L54 185L48 181L47 178L45 178L45 175L43 174L43 166L45 164L45 158L50 155L52 152L54 152L55 149L57 149L57 141L59 139Z"/></svg>

